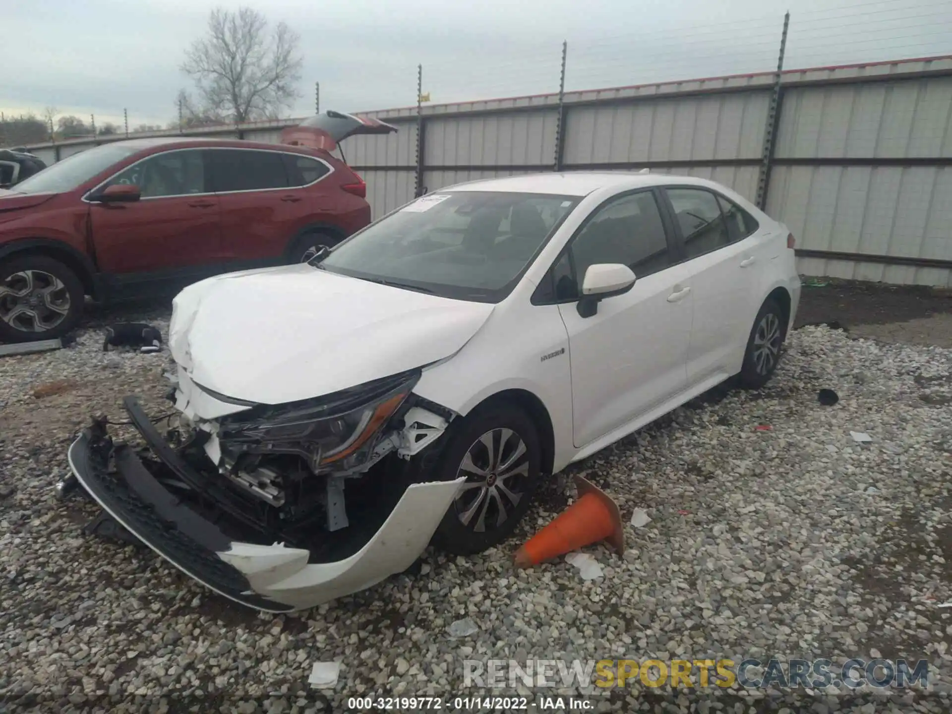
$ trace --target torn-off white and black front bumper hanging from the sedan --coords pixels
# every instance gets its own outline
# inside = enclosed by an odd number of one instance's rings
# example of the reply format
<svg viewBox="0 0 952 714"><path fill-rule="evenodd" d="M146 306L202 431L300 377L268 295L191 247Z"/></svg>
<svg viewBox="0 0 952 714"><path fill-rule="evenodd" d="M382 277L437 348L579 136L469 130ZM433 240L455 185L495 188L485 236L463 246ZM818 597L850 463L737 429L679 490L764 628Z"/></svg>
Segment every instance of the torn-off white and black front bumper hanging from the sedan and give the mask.
<svg viewBox="0 0 952 714"><path fill-rule="evenodd" d="M187 483L198 476L162 440L136 400L127 399L126 407L172 472L185 475ZM109 469L110 452L114 470ZM237 603L269 612L321 605L406 570L426 548L465 480L408 486L358 552L335 563L308 564L309 551L303 548L232 540L163 486L129 446L111 447L91 429L69 447L69 466L112 518L169 563Z"/></svg>

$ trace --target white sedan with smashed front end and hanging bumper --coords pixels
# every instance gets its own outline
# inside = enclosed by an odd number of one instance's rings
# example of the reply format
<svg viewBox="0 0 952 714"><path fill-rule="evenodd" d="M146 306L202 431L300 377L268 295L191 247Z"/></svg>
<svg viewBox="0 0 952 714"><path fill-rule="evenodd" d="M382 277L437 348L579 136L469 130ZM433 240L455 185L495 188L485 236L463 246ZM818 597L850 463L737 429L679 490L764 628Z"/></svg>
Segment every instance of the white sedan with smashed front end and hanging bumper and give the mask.
<svg viewBox="0 0 952 714"><path fill-rule="evenodd" d="M548 474L732 376L762 386L800 298L793 245L701 179L445 188L307 264L183 290L177 428L160 436L129 397L154 458L100 424L70 463L216 591L323 603L430 542L497 545Z"/></svg>

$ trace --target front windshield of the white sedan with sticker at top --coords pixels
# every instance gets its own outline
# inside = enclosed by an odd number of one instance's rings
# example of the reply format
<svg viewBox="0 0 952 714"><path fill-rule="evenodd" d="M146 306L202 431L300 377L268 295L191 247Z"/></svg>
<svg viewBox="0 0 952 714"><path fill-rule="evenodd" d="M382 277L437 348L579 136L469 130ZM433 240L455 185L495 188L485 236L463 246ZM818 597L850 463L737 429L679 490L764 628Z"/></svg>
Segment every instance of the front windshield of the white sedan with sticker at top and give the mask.
<svg viewBox="0 0 952 714"><path fill-rule="evenodd" d="M334 248L320 268L497 303L578 202L508 191L431 193Z"/></svg>

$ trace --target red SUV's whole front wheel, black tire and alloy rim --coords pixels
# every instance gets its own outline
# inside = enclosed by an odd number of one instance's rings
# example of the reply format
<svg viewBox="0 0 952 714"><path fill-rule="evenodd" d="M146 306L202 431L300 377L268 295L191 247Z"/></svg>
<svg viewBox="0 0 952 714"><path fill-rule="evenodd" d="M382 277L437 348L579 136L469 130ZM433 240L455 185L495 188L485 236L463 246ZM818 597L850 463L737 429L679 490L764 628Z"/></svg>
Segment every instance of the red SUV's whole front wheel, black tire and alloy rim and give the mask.
<svg viewBox="0 0 952 714"><path fill-rule="evenodd" d="M70 268L42 254L0 263L0 342L62 337L83 316L85 290Z"/></svg>

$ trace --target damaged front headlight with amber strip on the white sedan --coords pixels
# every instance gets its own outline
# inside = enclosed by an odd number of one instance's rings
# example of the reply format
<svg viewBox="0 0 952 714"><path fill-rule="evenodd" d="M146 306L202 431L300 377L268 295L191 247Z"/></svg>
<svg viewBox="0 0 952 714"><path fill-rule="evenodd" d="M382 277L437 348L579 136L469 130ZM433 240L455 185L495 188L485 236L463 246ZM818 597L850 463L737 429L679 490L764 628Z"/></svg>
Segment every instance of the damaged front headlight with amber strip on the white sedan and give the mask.
<svg viewBox="0 0 952 714"><path fill-rule="evenodd" d="M277 407L259 405L222 419L223 450L294 453L312 468L350 456L393 416L419 379L417 370L374 380L318 399Z"/></svg>

